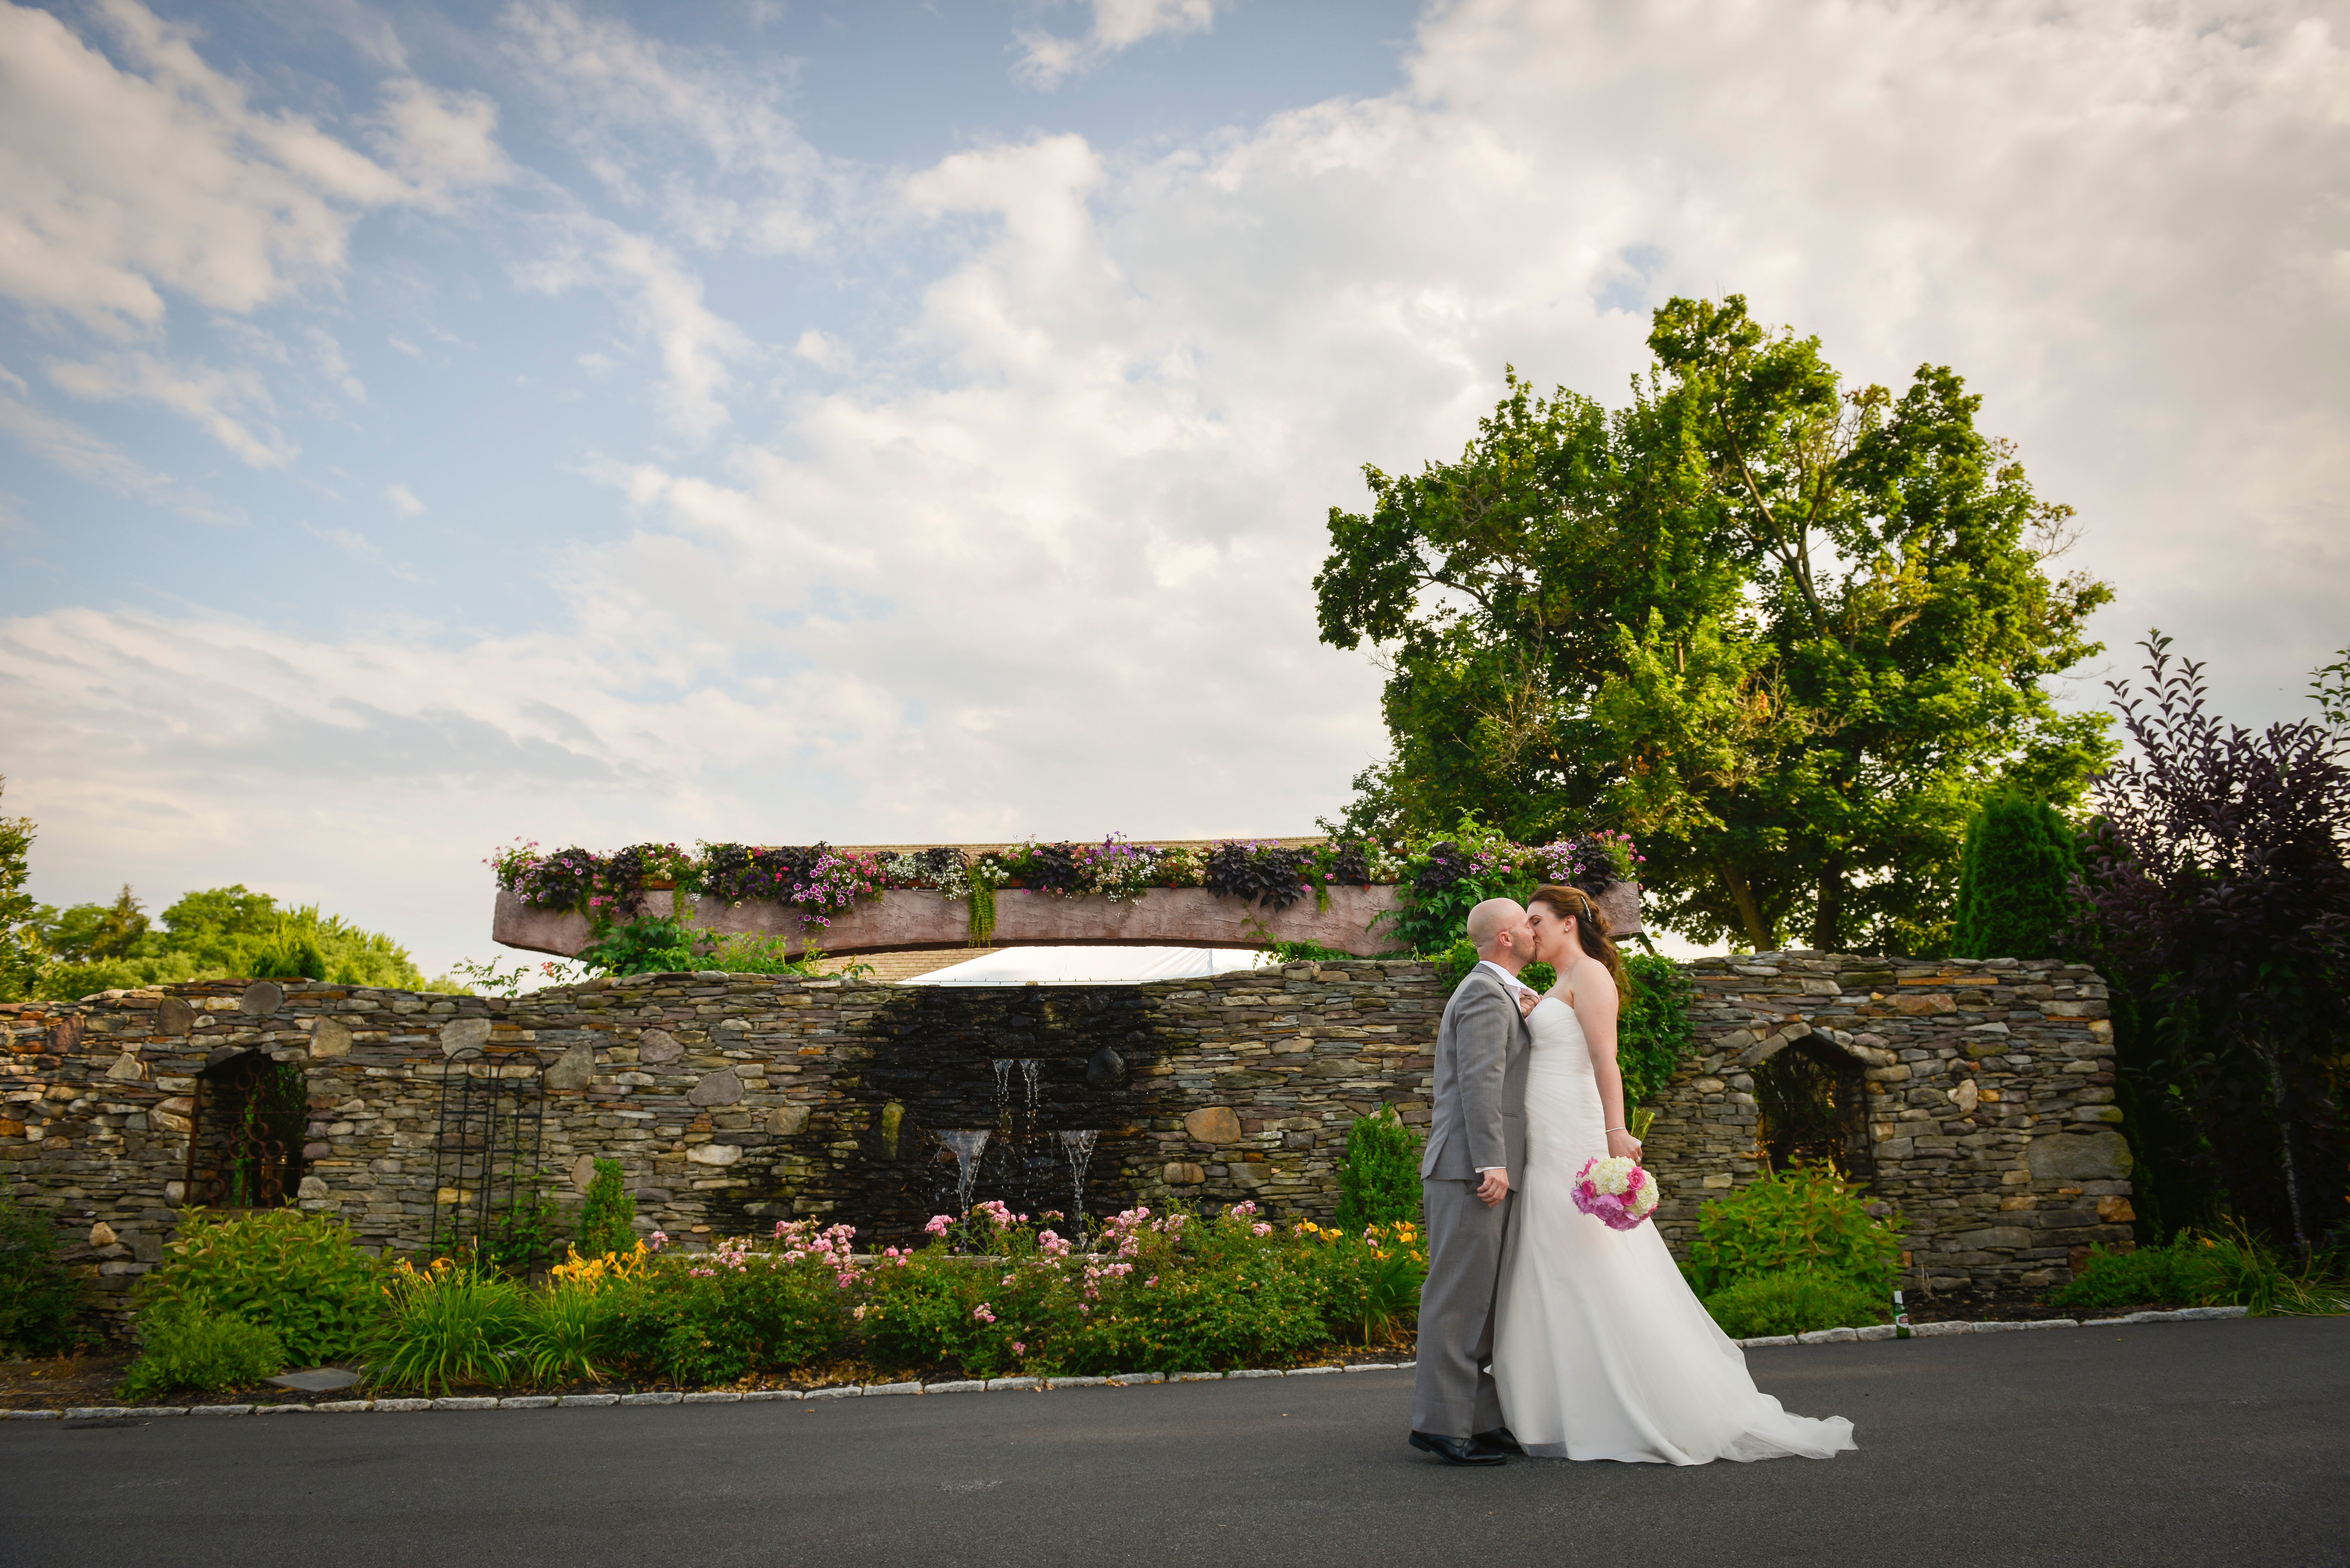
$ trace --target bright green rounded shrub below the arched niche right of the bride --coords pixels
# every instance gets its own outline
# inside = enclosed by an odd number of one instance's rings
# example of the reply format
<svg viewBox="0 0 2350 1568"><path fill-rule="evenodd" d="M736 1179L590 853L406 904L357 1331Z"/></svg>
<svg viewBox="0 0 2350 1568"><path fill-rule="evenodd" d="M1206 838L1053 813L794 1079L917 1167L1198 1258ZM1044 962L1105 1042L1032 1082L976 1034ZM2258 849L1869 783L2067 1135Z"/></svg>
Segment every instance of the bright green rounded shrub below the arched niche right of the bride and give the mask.
<svg viewBox="0 0 2350 1568"><path fill-rule="evenodd" d="M1899 1215L1871 1215L1864 1190L1835 1171L1798 1164L1706 1204L1685 1272L1708 1300L1741 1279L1788 1269L1849 1279L1892 1300L1904 1229Z"/></svg>

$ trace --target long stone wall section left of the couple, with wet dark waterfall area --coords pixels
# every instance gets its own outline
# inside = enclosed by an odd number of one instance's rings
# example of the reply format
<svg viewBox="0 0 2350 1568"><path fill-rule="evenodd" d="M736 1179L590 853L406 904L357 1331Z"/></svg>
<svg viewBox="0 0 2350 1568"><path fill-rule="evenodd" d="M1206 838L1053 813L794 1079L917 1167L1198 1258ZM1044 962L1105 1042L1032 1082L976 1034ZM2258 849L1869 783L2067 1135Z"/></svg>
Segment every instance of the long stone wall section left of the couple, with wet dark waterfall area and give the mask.
<svg viewBox="0 0 2350 1568"><path fill-rule="evenodd" d="M1100 1128L1093 1213L1175 1192L1325 1220L1351 1119L1382 1100L1426 1119L1443 997L1431 966L1410 961L1010 992L717 973L517 999L301 980L108 992L0 1006L0 1161L21 1201L56 1215L75 1260L122 1291L172 1232L195 1074L266 1051L308 1077L301 1206L374 1246L418 1248L449 1056L533 1051L540 1166L562 1201L609 1157L639 1229L682 1241L790 1215L907 1239L952 1206L952 1157L926 1133L996 1124L989 1065L1025 1058L1041 1079L1036 1208L1067 1206L1053 1133L1083 1126Z"/></svg>

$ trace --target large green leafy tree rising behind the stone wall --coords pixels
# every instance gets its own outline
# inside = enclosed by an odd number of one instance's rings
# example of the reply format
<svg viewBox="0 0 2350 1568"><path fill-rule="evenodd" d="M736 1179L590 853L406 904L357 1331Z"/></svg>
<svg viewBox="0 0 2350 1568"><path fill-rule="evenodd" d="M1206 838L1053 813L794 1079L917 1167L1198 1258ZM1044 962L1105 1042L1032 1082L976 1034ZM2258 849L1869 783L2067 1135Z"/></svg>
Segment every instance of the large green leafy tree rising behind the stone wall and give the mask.
<svg viewBox="0 0 2350 1568"><path fill-rule="evenodd" d="M1650 348L1629 407L1511 371L1457 463L1330 510L1323 639L1375 644L1394 738L1349 816L1617 825L1699 940L1934 950L1974 806L2077 802L2113 752L2044 689L2110 595L2052 569L2068 508L1950 369L1845 390L1741 296Z"/></svg>

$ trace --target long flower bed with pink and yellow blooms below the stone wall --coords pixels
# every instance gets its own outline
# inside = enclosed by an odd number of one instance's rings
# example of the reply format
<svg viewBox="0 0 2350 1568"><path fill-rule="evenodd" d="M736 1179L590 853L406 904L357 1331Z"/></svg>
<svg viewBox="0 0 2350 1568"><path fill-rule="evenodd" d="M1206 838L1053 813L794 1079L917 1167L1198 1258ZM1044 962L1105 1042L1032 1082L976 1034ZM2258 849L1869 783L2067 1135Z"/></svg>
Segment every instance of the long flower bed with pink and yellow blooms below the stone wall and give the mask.
<svg viewBox="0 0 2350 1568"><path fill-rule="evenodd" d="M449 1258L395 1260L345 1359L367 1363L374 1389L439 1394L1187 1373L1394 1347L1417 1319L1426 1253L1410 1222L1337 1232L1276 1227L1255 1204L1213 1218L1130 1208L1093 1251L1055 1222L978 1204L961 1225L935 1218L926 1246L879 1253L858 1253L851 1227L813 1220L710 1251L670 1248L656 1232L627 1253L573 1253L543 1284ZM273 1319L308 1309L287 1298L240 1314L157 1286L155 1300L167 1298L181 1316L148 1335L148 1373L132 1373L141 1389L197 1363L181 1349L193 1331L275 1345ZM247 1361L221 1366L242 1373L235 1382L275 1371Z"/></svg>

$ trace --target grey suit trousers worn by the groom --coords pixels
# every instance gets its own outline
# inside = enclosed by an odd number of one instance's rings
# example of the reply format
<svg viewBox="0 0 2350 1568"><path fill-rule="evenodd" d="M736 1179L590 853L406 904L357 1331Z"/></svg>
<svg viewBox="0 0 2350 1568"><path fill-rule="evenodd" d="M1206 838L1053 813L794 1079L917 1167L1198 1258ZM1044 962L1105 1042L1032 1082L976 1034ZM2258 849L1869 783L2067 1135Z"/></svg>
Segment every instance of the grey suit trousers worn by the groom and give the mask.
<svg viewBox="0 0 2350 1568"><path fill-rule="evenodd" d="M1516 1175L1516 1171L1511 1173ZM1424 1178L1429 1281L1419 1288L1419 1375L1412 1432L1476 1436L1502 1425L1492 1387L1492 1307L1502 1286L1502 1244L1518 1213L1518 1190L1488 1208L1473 1180Z"/></svg>

